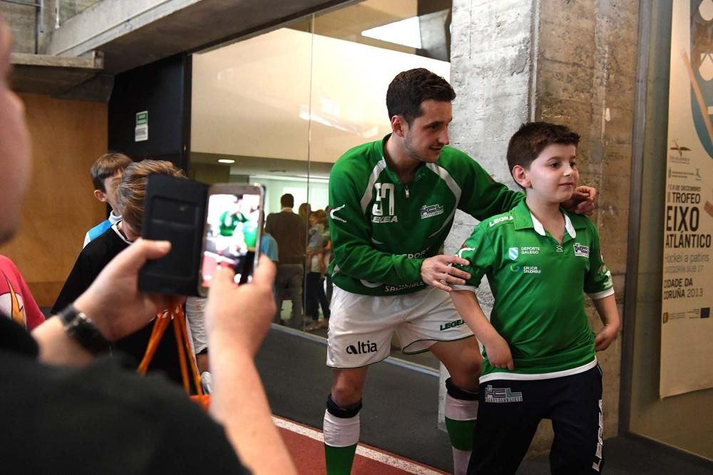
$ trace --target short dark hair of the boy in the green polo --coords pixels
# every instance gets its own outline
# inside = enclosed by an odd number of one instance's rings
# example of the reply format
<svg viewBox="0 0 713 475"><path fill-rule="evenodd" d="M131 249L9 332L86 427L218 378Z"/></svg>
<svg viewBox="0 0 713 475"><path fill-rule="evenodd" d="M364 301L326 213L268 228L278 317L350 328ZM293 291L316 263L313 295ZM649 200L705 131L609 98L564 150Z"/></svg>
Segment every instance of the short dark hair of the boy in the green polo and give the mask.
<svg viewBox="0 0 713 475"><path fill-rule="evenodd" d="M565 125L550 122L527 122L510 138L508 167L528 168L548 145L579 145L580 136Z"/></svg>

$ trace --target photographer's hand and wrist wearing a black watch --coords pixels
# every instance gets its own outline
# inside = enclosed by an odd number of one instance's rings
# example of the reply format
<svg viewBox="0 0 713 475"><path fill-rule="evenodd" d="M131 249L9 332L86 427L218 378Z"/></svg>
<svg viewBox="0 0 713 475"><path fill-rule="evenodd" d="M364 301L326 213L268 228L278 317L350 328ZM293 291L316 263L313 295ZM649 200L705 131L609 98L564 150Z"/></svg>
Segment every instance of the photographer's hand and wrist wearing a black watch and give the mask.
<svg viewBox="0 0 713 475"><path fill-rule="evenodd" d="M108 263L91 286L74 301L75 308L88 315L109 341L142 328L159 310L168 308L169 303L165 296L138 291L138 271L148 259L158 259L169 249L168 241L138 239ZM39 325L32 335L39 344L43 362L81 365L92 359L92 355L64 331L57 317Z"/></svg>

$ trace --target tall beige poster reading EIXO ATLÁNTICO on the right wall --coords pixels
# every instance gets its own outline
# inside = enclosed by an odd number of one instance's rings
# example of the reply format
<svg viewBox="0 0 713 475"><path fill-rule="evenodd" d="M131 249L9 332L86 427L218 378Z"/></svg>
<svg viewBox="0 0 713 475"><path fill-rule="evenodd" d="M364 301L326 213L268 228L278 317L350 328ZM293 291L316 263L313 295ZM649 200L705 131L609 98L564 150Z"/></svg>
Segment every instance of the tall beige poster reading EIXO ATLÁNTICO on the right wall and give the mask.
<svg viewBox="0 0 713 475"><path fill-rule="evenodd" d="M674 0L660 397L713 387L713 0Z"/></svg>

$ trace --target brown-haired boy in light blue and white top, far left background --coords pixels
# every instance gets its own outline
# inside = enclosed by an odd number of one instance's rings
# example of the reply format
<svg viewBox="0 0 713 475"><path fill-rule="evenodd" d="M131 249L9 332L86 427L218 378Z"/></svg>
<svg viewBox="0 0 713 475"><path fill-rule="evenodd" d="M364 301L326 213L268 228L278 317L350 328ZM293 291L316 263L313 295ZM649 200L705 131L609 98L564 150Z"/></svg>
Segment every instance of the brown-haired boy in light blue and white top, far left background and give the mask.
<svg viewBox="0 0 713 475"><path fill-rule="evenodd" d="M87 231L82 247L86 247L89 241L104 234L104 231L121 219L116 202L116 187L121 182L124 169L132 163L123 153L111 152L96 159L92 165L90 173L94 184L94 197L102 203L107 203L111 207L111 213L107 219Z"/></svg>

